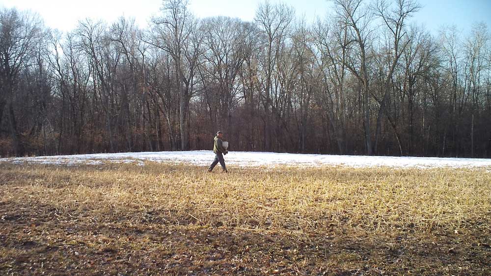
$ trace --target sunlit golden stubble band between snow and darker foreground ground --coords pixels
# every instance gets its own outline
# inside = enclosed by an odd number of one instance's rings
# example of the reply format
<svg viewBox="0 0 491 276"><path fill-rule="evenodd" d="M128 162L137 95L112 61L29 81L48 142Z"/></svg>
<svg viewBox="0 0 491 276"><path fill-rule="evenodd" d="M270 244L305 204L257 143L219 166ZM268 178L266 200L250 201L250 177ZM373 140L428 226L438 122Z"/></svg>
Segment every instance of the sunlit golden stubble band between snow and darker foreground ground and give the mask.
<svg viewBox="0 0 491 276"><path fill-rule="evenodd" d="M154 212L179 223L308 231L332 225L372 230L459 230L487 221L486 169L233 168L196 166L81 167L2 165L0 182L19 189L3 200L115 216ZM136 218L135 218L136 219ZM137 218L139 219L139 218Z"/></svg>

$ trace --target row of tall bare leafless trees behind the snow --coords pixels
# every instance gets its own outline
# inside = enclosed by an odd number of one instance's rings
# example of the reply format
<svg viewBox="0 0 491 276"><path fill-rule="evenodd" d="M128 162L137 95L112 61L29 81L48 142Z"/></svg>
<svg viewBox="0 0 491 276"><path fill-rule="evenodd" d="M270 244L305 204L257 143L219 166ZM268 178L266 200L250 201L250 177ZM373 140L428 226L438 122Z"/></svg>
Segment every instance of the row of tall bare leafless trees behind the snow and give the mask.
<svg viewBox="0 0 491 276"><path fill-rule="evenodd" d="M0 154L211 149L491 157L485 24L433 36L413 0L334 0L310 23L263 2L253 22L165 0L146 29L68 33L0 10ZM456 15L458 16L458 15Z"/></svg>

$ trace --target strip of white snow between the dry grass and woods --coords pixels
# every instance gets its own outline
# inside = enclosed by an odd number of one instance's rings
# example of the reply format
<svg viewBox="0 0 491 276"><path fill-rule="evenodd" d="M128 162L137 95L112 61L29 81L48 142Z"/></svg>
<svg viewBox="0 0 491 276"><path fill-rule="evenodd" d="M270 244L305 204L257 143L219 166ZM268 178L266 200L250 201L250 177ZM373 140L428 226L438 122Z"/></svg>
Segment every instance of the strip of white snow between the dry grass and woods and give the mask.
<svg viewBox="0 0 491 276"><path fill-rule="evenodd" d="M162 163L184 163L199 166L209 165L215 155L209 150L177 152L132 152L107 154L82 154L43 157L3 158L0 162L14 164L55 164L55 165L100 165L104 162L135 163L143 161ZM229 152L225 163L233 166L351 166L351 167L490 167L491 159L430 158L430 157L386 157L291 154L271 152Z"/></svg>

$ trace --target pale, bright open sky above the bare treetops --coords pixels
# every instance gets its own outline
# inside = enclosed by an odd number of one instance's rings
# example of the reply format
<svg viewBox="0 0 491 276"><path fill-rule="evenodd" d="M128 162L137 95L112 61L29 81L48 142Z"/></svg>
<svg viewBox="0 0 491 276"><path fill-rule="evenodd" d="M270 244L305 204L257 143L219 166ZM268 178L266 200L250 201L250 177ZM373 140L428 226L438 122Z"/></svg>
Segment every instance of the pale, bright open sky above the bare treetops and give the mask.
<svg viewBox="0 0 491 276"><path fill-rule="evenodd" d="M256 7L262 0L190 0L197 17L224 15L252 21ZM276 0L272 0L276 2ZM308 21L324 16L332 5L327 0L283 0L295 8L297 15ZM423 6L412 19L425 25L434 34L441 26L456 25L465 33L476 21L484 21L491 28L491 0L420 0ZM63 31L74 28L86 17L108 22L121 15L135 17L145 27L150 16L159 12L162 0L0 0L0 6L30 9L38 12L46 25Z"/></svg>

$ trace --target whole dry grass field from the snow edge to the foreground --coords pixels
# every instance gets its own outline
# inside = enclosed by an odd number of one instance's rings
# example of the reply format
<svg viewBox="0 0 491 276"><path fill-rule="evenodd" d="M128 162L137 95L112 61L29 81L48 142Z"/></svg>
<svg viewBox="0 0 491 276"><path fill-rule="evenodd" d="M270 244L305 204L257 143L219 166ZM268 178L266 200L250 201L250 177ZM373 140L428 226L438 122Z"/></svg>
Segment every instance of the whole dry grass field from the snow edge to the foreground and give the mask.
<svg viewBox="0 0 491 276"><path fill-rule="evenodd" d="M0 275L491 275L491 172L0 164Z"/></svg>

